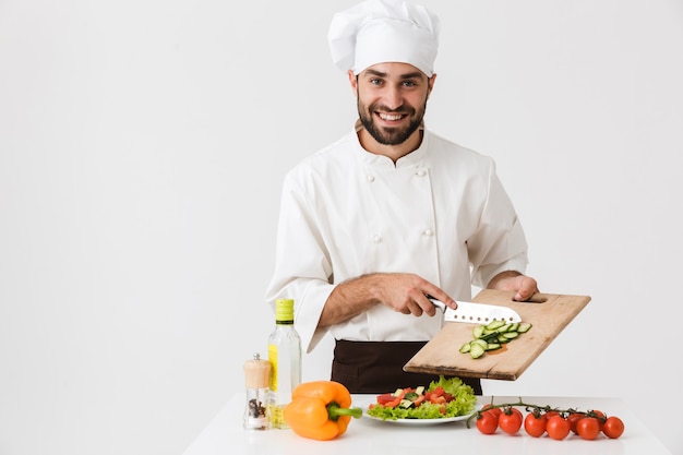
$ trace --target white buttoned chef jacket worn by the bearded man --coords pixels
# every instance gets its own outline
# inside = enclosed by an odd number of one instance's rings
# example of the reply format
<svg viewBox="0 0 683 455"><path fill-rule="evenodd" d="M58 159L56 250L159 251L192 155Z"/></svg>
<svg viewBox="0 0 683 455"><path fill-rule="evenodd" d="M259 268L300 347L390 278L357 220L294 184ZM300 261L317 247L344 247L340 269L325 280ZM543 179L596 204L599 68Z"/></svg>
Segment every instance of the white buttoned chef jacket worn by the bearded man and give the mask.
<svg viewBox="0 0 683 455"><path fill-rule="evenodd" d="M317 321L334 287L368 273L415 273L451 297L471 299L498 273L524 273L527 243L494 161L424 131L393 163L367 152L354 131L285 177L275 272L266 301L295 300L295 326L310 352L335 339L429 340L443 318L376 304L326 328Z"/></svg>

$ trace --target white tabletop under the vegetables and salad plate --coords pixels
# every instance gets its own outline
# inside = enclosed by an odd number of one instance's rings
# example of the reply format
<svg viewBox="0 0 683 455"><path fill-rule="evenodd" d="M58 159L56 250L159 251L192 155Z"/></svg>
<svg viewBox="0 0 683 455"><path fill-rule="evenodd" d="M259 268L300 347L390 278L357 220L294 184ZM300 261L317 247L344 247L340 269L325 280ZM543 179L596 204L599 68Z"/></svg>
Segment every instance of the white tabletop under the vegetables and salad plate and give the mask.
<svg viewBox="0 0 683 455"><path fill-rule="evenodd" d="M354 406L366 407L376 395L354 395ZM491 397L478 397L484 404ZM494 403L515 403L519 397L494 397ZM236 394L199 434L183 455L366 455L366 454L525 454L525 455L672 455L620 398L522 397L524 403L579 410L600 409L624 421L624 434L610 440L600 434L586 441L570 434L563 441L548 435L531 438L524 428L516 435L482 434L474 421L408 426L352 419L342 436L331 441L301 438L291 430L244 430L244 395ZM524 411L524 409L520 409ZM524 411L526 414L526 411Z"/></svg>

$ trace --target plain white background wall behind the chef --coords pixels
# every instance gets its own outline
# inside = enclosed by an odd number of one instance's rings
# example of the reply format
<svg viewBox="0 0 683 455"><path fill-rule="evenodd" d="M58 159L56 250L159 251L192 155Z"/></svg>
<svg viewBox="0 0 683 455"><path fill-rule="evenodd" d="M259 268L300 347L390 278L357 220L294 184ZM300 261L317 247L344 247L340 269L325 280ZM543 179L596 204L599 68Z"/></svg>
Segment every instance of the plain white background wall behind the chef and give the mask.
<svg viewBox="0 0 683 455"><path fill-rule="evenodd" d="M283 176L355 120L354 3L0 0L0 454L181 454L243 388ZM541 290L592 297L484 392L618 396L682 453L683 2L423 3L428 127L496 159Z"/></svg>

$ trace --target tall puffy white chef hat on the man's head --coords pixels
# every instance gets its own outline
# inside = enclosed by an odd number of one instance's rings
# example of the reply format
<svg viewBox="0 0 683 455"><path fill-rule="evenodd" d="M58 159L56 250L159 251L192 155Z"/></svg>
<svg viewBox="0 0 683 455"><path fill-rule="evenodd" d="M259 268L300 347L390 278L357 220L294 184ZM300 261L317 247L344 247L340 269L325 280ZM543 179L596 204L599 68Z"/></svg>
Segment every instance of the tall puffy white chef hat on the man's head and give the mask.
<svg viewBox="0 0 683 455"><path fill-rule="evenodd" d="M336 13L327 39L334 63L360 73L382 62L410 63L428 76L434 72L439 17L404 0L367 0Z"/></svg>

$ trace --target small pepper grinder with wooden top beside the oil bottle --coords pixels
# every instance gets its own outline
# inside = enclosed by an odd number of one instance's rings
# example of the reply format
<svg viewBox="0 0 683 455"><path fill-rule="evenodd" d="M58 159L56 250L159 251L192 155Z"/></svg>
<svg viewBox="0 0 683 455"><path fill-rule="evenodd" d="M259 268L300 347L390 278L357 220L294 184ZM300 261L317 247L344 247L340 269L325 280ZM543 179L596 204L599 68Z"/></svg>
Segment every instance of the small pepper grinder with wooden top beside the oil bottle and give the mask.
<svg viewBox="0 0 683 455"><path fill-rule="evenodd" d="M247 430L266 430L268 428L266 403L269 376L271 362L262 360L259 352L254 354L252 360L244 362L244 385L247 387L244 428Z"/></svg>

